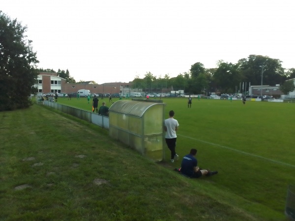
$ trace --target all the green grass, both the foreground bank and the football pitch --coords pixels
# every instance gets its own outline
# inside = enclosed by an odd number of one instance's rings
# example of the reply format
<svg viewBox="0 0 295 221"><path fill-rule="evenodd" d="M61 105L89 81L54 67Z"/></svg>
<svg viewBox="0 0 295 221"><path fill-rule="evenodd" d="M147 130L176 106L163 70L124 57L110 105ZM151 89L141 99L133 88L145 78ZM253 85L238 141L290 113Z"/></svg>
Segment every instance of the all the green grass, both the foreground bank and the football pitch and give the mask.
<svg viewBox="0 0 295 221"><path fill-rule="evenodd" d="M184 98L164 102L167 117L174 110L180 124L177 154L197 148L200 166L218 170L217 175L187 179L171 171L180 161L170 167L153 164L110 140L105 130L35 105L30 111L35 115L27 110L2 113L0 220L285 219L287 188L295 184L294 104L194 99L188 109ZM85 98L59 98L59 103L91 110ZM16 116L21 121L15 127ZM88 157L75 158L79 154ZM47 166L22 161L30 156ZM50 171L53 175L47 175ZM89 181L95 177L113 186L97 193ZM26 183L35 189L13 191Z"/></svg>

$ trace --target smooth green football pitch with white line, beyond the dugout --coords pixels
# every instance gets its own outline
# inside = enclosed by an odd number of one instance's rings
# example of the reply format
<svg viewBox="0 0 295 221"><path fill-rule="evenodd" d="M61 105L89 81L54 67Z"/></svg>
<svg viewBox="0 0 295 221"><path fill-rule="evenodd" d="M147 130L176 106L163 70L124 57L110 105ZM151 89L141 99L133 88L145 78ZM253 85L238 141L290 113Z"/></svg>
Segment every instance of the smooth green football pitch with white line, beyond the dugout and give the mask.
<svg viewBox="0 0 295 221"><path fill-rule="evenodd" d="M104 100L110 107L109 100ZM179 123L176 150L180 159L196 148L199 166L218 170L214 187L260 204L265 208L262 213L284 212L288 185L295 185L295 104L247 101L243 105L195 98L188 108L187 98L162 100L165 117L174 110ZM86 98L59 98L58 102L92 109ZM168 161L170 152L165 148ZM179 167L180 160L171 166Z"/></svg>

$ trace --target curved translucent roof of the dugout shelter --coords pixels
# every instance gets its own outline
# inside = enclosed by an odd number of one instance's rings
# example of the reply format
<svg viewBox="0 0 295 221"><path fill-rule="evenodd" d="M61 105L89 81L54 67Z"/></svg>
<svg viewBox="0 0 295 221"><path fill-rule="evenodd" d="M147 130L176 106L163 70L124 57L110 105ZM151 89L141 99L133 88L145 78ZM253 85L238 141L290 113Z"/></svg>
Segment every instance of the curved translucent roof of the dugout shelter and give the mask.
<svg viewBox="0 0 295 221"><path fill-rule="evenodd" d="M124 113L132 116L142 117L144 113L155 105L164 105L164 103L152 103L146 102L144 100L135 101L135 100L121 100L115 102L110 108L109 111Z"/></svg>

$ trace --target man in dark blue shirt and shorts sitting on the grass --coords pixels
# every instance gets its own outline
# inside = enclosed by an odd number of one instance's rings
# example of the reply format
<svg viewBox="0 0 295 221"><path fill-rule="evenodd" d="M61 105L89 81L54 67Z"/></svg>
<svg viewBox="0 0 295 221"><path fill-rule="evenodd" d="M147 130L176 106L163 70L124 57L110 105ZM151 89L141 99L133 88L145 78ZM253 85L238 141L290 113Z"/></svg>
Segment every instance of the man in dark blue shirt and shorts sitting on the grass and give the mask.
<svg viewBox="0 0 295 221"><path fill-rule="evenodd" d="M180 172L190 178L199 178L203 175L210 176L218 173L217 171L209 171L207 169L201 169L198 166L198 161L195 158L197 154L196 149L191 149L190 153L185 155L181 162Z"/></svg>

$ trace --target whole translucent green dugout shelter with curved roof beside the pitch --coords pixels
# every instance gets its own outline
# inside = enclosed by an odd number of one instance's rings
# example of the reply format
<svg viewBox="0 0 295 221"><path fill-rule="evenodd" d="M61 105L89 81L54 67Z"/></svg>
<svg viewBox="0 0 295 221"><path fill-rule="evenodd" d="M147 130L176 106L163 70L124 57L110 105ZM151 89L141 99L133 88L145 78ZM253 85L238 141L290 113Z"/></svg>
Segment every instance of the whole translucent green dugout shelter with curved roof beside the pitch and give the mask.
<svg viewBox="0 0 295 221"><path fill-rule="evenodd" d="M121 100L109 109L109 135L142 155L164 159L164 106L162 100Z"/></svg>

